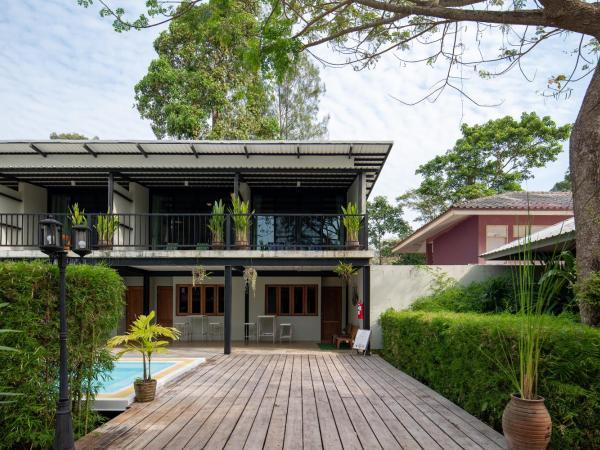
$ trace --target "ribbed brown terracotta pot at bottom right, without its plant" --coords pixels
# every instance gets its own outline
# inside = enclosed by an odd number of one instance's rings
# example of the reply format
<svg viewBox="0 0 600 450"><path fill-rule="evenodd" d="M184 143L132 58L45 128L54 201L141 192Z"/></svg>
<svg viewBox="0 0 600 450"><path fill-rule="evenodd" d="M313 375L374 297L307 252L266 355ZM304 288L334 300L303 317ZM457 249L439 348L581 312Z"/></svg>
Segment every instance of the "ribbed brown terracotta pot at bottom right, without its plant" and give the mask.
<svg viewBox="0 0 600 450"><path fill-rule="evenodd" d="M509 450L545 450L552 419L544 399L524 400L513 394L502 414L502 430Z"/></svg>

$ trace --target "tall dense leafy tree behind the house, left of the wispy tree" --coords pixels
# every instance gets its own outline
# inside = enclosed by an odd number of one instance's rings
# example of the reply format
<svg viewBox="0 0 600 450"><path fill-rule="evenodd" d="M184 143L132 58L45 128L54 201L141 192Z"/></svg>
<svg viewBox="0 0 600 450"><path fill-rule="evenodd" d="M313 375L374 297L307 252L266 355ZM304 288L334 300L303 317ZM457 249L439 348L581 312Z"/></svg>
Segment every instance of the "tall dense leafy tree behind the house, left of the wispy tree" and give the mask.
<svg viewBox="0 0 600 450"><path fill-rule="evenodd" d="M212 1L192 8L154 41L158 58L135 86L138 111L157 138L272 139L272 94L252 57L259 4Z"/></svg>

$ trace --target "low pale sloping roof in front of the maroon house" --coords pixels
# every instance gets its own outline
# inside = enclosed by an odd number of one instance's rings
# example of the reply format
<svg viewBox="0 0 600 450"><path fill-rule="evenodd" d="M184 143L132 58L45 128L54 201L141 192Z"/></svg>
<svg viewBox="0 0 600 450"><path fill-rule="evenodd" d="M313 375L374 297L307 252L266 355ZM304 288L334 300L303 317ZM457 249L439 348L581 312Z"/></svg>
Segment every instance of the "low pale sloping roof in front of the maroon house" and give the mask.
<svg viewBox="0 0 600 450"><path fill-rule="evenodd" d="M525 244L531 246L535 253L553 253L556 250L570 249L575 242L575 218L563 220L554 225L550 225L536 233L531 233L529 237L523 237L516 241L504 244L489 252L482 254L485 259L510 259L512 256L518 256L523 252ZM559 246L562 247L559 248Z"/></svg>

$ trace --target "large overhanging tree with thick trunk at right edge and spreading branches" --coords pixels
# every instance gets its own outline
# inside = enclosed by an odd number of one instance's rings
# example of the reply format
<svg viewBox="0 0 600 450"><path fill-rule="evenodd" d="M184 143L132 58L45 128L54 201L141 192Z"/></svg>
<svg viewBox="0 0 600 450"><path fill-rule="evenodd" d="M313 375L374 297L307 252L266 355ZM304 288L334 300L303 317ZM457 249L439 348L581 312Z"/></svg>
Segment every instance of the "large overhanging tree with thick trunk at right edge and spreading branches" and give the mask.
<svg viewBox="0 0 600 450"><path fill-rule="evenodd" d="M91 1L78 0L84 6ZM107 5L106 0L103 4ZM149 0L146 4L146 12L133 22L127 21L122 8L105 6L101 14L113 17L119 31L156 26L169 20L162 16L173 15L168 4L159 0ZM493 79L514 67L522 70L521 60L540 43L564 37L569 32L576 33L577 43L571 52L575 61L573 70L549 76L548 89L549 95L568 95L572 82L593 74L575 121L569 149L579 276L586 278L600 267L600 221L597 218L600 211L600 65L597 64L600 3L582 0L282 0L272 3L267 17L282 14L298 23L295 34L288 39L285 33L265 27L261 43L279 62L285 61L290 52L329 43L344 54L348 64L358 68L370 67L382 54L394 51L404 64L445 63L446 75L421 100L435 100L445 90L454 90L474 101L462 88L465 67ZM153 17L161 19L150 23ZM469 28L469 24L473 26ZM490 37L500 39L490 42ZM473 45L469 47L469 43ZM402 52L413 45L426 49L425 57L403 58ZM560 53L555 58L564 58L563 47L559 47ZM580 311L584 323L600 324L600 305L582 302Z"/></svg>

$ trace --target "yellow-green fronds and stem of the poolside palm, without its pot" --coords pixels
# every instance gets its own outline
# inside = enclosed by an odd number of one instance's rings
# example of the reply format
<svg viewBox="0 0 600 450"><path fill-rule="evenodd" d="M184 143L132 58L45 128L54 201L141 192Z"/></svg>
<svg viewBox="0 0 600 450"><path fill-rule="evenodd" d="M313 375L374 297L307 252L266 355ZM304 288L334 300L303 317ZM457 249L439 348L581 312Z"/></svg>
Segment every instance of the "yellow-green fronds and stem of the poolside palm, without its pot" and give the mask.
<svg viewBox="0 0 600 450"><path fill-rule="evenodd" d="M152 323L155 312L150 311L150 314L139 315L131 324L129 332L121 336L114 336L108 341L108 346L123 347L117 352L117 356L122 356L126 353L140 353L143 361L143 377L142 381L147 382L152 380L152 355L155 353L164 353L169 341L161 338L177 340L180 332L173 327L163 327L157 323Z"/></svg>

